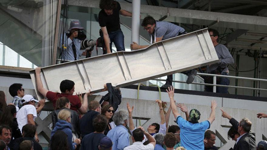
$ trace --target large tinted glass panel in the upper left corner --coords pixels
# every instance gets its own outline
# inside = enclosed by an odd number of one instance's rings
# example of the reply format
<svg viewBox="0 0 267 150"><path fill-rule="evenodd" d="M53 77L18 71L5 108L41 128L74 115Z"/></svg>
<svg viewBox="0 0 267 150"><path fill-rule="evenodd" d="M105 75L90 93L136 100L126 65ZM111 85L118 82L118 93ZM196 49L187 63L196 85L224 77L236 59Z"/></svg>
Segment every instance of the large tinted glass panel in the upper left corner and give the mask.
<svg viewBox="0 0 267 150"><path fill-rule="evenodd" d="M57 0L1 1L0 41L34 64L40 66L43 56L43 64L50 65L57 4Z"/></svg>

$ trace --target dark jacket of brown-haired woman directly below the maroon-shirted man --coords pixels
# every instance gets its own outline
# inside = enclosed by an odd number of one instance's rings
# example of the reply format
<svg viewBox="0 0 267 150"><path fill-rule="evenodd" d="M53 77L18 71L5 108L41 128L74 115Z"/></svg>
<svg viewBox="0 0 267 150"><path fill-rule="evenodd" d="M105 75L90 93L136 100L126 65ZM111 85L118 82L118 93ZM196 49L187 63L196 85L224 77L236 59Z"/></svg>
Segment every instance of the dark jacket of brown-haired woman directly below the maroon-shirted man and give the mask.
<svg viewBox="0 0 267 150"><path fill-rule="evenodd" d="M70 122L70 124L72 126L71 131L73 133L76 133L77 135L80 135L80 132L79 132L79 115L76 111L71 110L69 108L61 108L61 109L54 110L52 112L52 129L55 127L56 122L58 121L58 118L57 118L58 113L63 109L68 109L71 112L71 116L72 116L71 122Z"/></svg>

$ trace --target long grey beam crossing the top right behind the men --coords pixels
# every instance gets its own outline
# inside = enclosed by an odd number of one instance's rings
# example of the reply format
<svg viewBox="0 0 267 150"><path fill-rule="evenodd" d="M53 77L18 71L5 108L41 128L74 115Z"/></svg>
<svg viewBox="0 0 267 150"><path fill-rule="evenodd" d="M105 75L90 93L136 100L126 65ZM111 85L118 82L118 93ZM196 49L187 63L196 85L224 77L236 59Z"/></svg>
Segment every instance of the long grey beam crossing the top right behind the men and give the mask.
<svg viewBox="0 0 267 150"><path fill-rule="evenodd" d="M76 5L82 7L99 8L98 0L69 0L69 5ZM121 8L132 12L132 5L129 3L120 2ZM266 17L238 15L220 12L206 12L199 10L167 8L159 6L141 5L140 12L146 14L155 14L154 18L158 20L162 16L169 15L165 21L180 22L195 25L209 25L218 19L220 22L216 24L219 27L239 28L247 30L265 31L267 27Z"/></svg>

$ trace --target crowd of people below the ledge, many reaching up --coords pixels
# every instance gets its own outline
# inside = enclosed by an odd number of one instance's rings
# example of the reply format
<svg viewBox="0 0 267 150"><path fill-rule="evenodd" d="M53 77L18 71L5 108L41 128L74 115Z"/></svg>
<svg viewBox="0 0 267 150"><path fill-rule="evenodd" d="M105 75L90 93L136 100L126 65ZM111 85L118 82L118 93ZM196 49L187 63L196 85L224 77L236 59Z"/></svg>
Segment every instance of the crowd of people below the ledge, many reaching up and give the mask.
<svg viewBox="0 0 267 150"><path fill-rule="evenodd" d="M218 149L214 145L216 134L209 130L215 120L215 101L211 102L211 113L207 120L199 122L201 113L197 109L188 111L184 104L176 104L178 101L174 100L174 88L169 87L166 90L170 98L168 111L164 113L163 106L166 104L155 100L161 121L152 123L145 130L141 126L134 126L134 106L127 103L127 109L117 110L120 103L114 105L109 99L101 103L93 100L88 104L87 97L92 95L90 91L83 97L73 95L74 82L63 80L60 84L61 93L54 93L45 89L39 82L40 68L35 69L35 74L38 92L55 104L55 110L52 112L50 150ZM12 84L9 93L13 100L8 105L5 93L0 91L0 150L42 149L36 132L35 118L45 102L44 99L38 101L32 95L26 95L24 91L22 84ZM186 118L181 117L178 108L185 113ZM168 125L171 112L177 125ZM264 140L256 144L255 133L251 131L252 122L248 118L242 118L238 122L222 108L221 113L222 117L228 118L232 124L228 139L236 141L234 150L267 149L267 142ZM267 114L258 113L255 117L267 118Z"/></svg>

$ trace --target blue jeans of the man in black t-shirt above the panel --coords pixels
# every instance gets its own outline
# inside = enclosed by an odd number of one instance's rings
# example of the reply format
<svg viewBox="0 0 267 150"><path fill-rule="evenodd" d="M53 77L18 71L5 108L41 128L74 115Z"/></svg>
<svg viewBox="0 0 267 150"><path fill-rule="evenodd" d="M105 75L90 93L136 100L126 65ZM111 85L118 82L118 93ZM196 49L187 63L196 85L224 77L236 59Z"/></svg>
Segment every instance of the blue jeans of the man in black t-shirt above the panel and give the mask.
<svg viewBox="0 0 267 150"><path fill-rule="evenodd" d="M101 38L103 38L101 36ZM114 43L115 47L117 48L117 52L119 51L125 51L124 47L124 35L121 31L121 29L117 31L113 31L109 33L110 38L110 51L112 52L112 42ZM106 52L103 52L103 54L106 54Z"/></svg>

